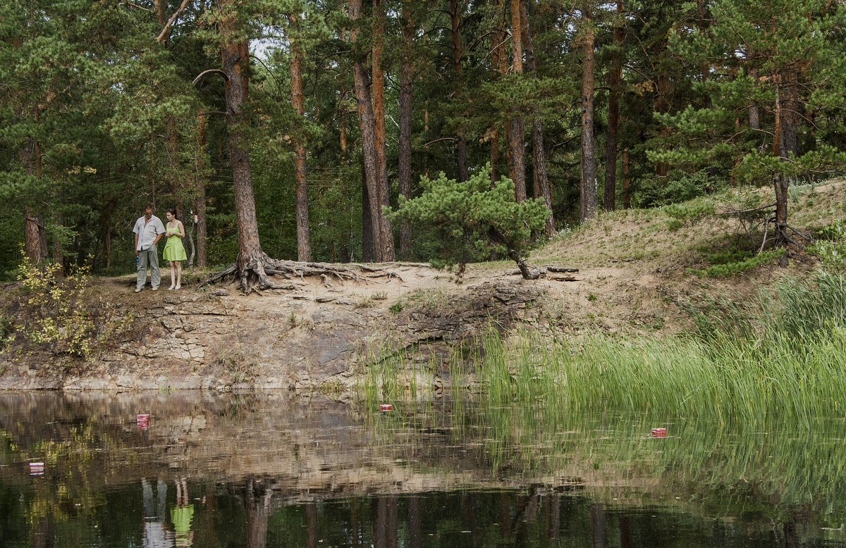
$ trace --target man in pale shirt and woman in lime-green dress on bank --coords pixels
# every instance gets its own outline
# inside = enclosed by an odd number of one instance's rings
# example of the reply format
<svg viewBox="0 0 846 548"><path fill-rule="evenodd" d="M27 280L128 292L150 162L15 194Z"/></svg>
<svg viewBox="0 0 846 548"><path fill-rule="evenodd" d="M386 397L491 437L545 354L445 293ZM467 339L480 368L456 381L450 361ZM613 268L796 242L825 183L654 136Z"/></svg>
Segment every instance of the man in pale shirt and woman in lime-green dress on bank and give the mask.
<svg viewBox="0 0 846 548"><path fill-rule="evenodd" d="M168 219L168 227L162 224L162 220L153 215L152 206L144 208L144 216L135 221L132 232L135 233L135 257L138 264L138 277L135 281L135 293L139 293L147 282L147 264L150 265L150 283L153 291L158 290L162 277L158 270L158 241L162 234L168 237L164 246L164 260L170 263L170 287L168 289L179 289L182 287L182 261L188 257L185 255L185 248L182 245L182 238L185 237L185 227L176 218L176 210L168 209L165 213Z"/></svg>

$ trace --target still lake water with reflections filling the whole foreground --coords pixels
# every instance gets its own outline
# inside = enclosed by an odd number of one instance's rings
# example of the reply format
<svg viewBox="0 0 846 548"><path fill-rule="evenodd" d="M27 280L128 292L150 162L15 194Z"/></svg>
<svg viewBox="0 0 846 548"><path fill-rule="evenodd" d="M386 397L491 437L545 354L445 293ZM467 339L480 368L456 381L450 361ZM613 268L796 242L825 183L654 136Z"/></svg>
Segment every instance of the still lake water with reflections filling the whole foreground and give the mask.
<svg viewBox="0 0 846 548"><path fill-rule="evenodd" d="M846 545L842 418L393 405L0 393L0 546Z"/></svg>

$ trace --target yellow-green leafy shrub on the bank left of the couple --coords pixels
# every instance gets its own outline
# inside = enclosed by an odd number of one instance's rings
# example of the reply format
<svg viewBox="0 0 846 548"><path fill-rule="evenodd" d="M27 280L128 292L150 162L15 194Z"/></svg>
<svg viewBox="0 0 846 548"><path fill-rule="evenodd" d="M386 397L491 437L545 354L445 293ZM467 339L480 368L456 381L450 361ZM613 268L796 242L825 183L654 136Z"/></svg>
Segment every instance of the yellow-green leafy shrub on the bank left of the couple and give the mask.
<svg viewBox="0 0 846 548"><path fill-rule="evenodd" d="M91 356L94 326L85 304L88 271L80 268L59 277L61 266L43 266L25 259L18 279L25 289L30 323L17 327L23 337L57 356L87 359Z"/></svg>

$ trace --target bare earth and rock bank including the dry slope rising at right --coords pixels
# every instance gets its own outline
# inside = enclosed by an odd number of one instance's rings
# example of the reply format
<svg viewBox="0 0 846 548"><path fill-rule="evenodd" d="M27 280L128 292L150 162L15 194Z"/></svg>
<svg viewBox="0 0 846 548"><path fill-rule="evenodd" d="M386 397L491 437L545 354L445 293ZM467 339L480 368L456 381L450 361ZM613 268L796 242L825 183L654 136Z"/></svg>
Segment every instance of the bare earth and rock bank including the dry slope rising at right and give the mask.
<svg viewBox="0 0 846 548"><path fill-rule="evenodd" d="M766 190L755 192L766 202ZM795 225L831 222L842 212L843 192L842 182L796 190ZM735 198L729 194L717 211ZM689 327L680 303L704 293L744 299L816 265L794 250L787 269L765 264L726 279L690 273L707 266L707 249L758 245L754 231L743 231L725 216L679 228L660 210L601 214L536 250L529 262L546 275L534 281L519 277L513 262L470 265L460 279L457 271L419 264L349 266L351 277L294 277L286 289L248 296L233 286L199 288L201 274L187 275L176 292L137 294L135 277L95 277L85 293L93 343L83 360L27 340L31 293L9 283L0 297L0 389L343 394L374 356L395 353L421 364L416 386L437 389L448 360L491 326L506 335L661 337Z"/></svg>

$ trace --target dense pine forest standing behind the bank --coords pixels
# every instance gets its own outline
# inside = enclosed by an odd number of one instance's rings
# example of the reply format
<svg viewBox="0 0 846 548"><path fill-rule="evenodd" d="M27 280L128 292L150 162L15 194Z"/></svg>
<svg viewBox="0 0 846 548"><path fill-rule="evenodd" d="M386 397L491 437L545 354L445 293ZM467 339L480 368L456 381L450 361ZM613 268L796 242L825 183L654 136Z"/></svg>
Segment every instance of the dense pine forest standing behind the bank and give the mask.
<svg viewBox="0 0 846 548"><path fill-rule="evenodd" d="M21 247L133 271L147 204L257 286L437 260L386 211L487 170L547 206L535 238L744 185L779 231L789 184L846 166L844 29L831 0L7 0L0 276Z"/></svg>

